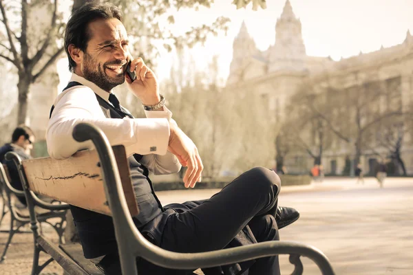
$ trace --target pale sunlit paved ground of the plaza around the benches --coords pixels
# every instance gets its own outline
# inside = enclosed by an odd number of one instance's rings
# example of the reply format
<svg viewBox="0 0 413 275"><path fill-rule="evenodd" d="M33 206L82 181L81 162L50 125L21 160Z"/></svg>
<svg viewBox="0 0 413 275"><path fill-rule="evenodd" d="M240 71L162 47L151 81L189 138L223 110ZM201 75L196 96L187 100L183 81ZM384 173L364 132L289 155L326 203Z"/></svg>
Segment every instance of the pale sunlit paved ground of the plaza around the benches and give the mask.
<svg viewBox="0 0 413 275"><path fill-rule="evenodd" d="M159 197L167 204L207 198L217 191L163 191ZM279 201L301 212L297 222L280 231L282 239L319 248L336 274L413 274L413 178L389 178L382 189L373 178L363 185L355 179L326 179L310 186L286 186ZM8 222L6 217L0 225L0 251L7 241ZM44 225L43 230L57 241L51 228ZM8 259L0 264L0 275L30 274L32 245L31 234L15 235ZM282 274L290 274L288 256L280 261ZM310 260L304 258L303 263L304 274L320 274ZM42 274L63 271L53 263Z"/></svg>

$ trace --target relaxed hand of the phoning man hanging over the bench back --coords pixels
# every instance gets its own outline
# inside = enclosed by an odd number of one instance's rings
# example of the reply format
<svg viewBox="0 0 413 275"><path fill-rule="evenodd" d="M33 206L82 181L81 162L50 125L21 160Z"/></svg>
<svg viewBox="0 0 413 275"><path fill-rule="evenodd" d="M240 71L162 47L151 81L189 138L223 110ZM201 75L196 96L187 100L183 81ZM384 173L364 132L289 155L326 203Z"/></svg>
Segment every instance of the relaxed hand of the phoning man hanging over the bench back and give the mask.
<svg viewBox="0 0 413 275"><path fill-rule="evenodd" d="M201 181L201 173L204 170L198 148L173 120L170 129L168 150L178 157L182 166L188 168L184 175L184 184L186 188L193 188L197 181Z"/></svg>

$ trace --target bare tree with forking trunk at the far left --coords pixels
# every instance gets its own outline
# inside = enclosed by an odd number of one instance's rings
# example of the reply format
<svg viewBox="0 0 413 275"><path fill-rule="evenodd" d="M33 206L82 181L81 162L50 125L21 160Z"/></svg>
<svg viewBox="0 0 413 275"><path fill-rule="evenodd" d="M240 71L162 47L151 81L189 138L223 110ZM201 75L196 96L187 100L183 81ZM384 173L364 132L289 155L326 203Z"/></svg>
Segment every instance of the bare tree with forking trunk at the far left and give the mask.
<svg viewBox="0 0 413 275"><path fill-rule="evenodd" d="M52 10L50 25L43 29L44 34L41 32L39 35L34 32L36 24L30 24L31 10L44 6L50 6ZM1 23L6 33L6 39L0 41L0 58L14 65L19 77L17 124L25 123L30 85L35 83L63 52L63 47L56 48L55 43L56 37L62 36L64 27L57 6L57 0L53 3L47 0L22 0L19 5L15 5L14 1L0 0ZM19 22L9 21L11 13L19 15ZM37 35L32 35L33 33Z"/></svg>

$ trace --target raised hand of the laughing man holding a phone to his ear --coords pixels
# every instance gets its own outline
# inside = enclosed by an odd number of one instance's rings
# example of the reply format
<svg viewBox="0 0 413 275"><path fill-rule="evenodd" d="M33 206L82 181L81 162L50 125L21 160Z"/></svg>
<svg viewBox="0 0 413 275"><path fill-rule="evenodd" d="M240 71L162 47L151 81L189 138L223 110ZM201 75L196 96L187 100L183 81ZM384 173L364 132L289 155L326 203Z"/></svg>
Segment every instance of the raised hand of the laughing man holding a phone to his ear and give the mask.
<svg viewBox="0 0 413 275"><path fill-rule="evenodd" d="M145 105L155 105L160 102L158 80L156 80L155 74L149 69L142 58L133 59L130 56L131 67L130 71L136 73L136 79L131 81L129 76L125 74L125 80L129 89L135 96L140 98Z"/></svg>

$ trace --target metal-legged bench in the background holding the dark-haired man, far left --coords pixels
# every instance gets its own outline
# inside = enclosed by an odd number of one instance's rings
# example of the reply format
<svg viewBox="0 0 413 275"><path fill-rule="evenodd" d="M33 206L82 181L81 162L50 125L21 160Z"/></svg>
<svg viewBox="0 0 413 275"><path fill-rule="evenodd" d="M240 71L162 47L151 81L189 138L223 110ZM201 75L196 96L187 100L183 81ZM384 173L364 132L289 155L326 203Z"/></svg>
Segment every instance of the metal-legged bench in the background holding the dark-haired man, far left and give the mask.
<svg viewBox="0 0 413 275"><path fill-rule="evenodd" d="M19 197L25 197L25 193L21 190L17 190L10 184L10 175L8 173L8 168L5 164L0 165L0 186L3 197L3 210L0 221L3 219L6 213L10 213L10 230L8 231L9 236L6 242L6 247L0 256L0 263L6 259L6 253L8 251L9 245L12 242L14 234L21 232L21 228L30 223L30 213L29 208L19 201ZM63 243L63 230L64 223L66 221L66 210L69 208L68 205L51 205L47 201L43 201L37 197L33 192L30 195L38 203L34 208L37 220L39 223L47 223L54 228L56 233L59 235L59 243ZM5 208L8 208L8 211Z"/></svg>

